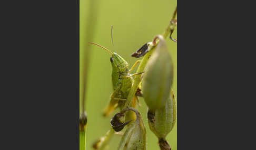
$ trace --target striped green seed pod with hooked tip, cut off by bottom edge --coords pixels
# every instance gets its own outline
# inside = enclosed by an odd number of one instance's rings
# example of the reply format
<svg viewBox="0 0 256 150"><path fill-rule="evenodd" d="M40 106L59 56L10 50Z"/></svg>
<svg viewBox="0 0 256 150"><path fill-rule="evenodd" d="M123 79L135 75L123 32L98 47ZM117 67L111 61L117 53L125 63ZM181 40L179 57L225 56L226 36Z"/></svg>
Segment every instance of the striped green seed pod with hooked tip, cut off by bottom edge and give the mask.
<svg viewBox="0 0 256 150"><path fill-rule="evenodd" d="M118 150L145 150L146 149L146 129L140 113L128 108L123 111L132 110L136 113L137 119L125 131ZM123 112L122 111L122 112Z"/></svg>

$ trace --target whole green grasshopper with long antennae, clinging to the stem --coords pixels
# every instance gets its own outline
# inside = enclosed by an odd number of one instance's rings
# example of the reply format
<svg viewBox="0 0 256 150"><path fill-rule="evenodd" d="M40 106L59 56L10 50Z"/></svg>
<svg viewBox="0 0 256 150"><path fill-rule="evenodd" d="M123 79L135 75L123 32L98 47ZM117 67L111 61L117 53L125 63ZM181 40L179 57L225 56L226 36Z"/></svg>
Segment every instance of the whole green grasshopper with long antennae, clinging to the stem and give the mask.
<svg viewBox="0 0 256 150"><path fill-rule="evenodd" d="M112 38L112 44L113 44L112 29L113 27L111 28L111 38ZM128 97L128 94L132 87L132 83L133 83L132 76L143 73L143 72L140 72L140 73L131 74L131 71L138 65L140 60L137 60L132 66L132 68L129 69L129 63L117 53L111 52L109 49L99 44L96 44L94 42L89 42L89 43L99 46L111 54L110 62L112 65L112 85L113 85L114 92L111 94L110 103L106 107L103 113L104 116L109 116L117 108L117 106L119 106L121 110L124 108L126 98Z"/></svg>

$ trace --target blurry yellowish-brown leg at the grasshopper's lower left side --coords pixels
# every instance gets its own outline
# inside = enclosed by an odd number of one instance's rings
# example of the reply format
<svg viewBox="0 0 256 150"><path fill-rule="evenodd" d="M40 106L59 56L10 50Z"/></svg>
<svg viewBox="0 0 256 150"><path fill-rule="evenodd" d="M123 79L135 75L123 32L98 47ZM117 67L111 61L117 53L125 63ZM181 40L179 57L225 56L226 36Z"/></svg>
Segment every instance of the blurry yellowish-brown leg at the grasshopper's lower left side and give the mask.
<svg viewBox="0 0 256 150"><path fill-rule="evenodd" d="M118 94L119 90L121 89L122 85L119 84L119 86L115 89L115 91L111 94L110 96L110 103L107 105L107 107L104 110L103 115L104 116L109 116L110 114L113 113L113 111L117 108L118 102L125 101L126 99L121 99L121 98L116 98L116 95Z"/></svg>

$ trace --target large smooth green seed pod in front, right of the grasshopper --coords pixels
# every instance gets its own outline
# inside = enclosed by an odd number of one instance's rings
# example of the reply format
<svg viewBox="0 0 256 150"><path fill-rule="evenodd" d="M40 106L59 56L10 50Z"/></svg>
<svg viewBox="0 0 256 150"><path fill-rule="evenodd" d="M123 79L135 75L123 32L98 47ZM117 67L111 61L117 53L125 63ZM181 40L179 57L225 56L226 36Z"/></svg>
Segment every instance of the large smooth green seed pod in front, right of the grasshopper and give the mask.
<svg viewBox="0 0 256 150"><path fill-rule="evenodd" d="M159 35L159 44L146 64L142 79L144 100L151 111L162 108L168 100L173 82L173 64L164 38Z"/></svg>

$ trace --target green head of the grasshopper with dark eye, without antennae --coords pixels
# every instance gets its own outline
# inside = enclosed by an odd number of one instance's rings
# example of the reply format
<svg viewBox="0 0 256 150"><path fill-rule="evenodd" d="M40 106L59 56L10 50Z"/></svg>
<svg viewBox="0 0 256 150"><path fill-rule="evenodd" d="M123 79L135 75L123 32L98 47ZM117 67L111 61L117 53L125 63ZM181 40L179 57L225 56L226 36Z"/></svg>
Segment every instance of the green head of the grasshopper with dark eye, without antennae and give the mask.
<svg viewBox="0 0 256 150"><path fill-rule="evenodd" d="M129 64L115 52L113 52L113 55L110 57L110 61L113 69L118 69L120 72L126 72L129 70Z"/></svg>

